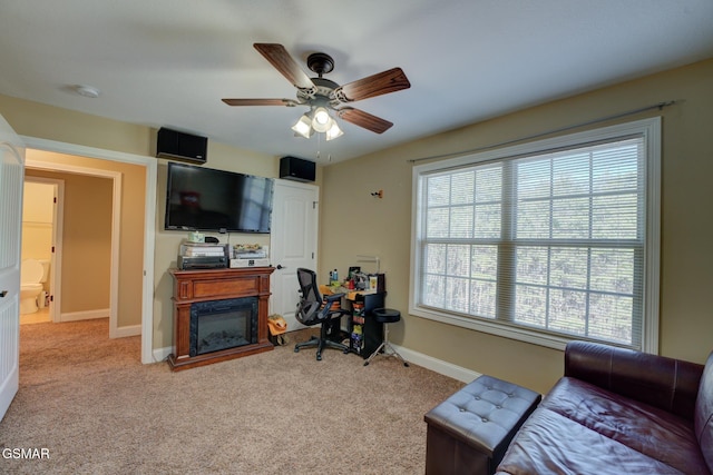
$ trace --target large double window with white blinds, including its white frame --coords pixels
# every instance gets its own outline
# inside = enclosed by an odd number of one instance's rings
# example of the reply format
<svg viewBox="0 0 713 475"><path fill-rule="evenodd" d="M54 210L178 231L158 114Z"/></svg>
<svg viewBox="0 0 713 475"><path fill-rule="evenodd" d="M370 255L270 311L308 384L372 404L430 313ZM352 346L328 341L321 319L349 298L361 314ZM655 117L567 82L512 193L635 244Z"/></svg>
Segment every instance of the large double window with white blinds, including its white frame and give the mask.
<svg viewBox="0 0 713 475"><path fill-rule="evenodd" d="M410 313L656 352L660 119L414 167Z"/></svg>

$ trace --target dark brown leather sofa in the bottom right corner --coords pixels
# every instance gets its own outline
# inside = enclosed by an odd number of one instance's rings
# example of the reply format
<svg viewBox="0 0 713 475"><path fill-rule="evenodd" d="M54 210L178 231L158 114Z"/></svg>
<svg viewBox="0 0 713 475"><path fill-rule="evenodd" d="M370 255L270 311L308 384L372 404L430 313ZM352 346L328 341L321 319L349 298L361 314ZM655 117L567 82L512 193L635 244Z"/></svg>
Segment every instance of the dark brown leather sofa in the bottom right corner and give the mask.
<svg viewBox="0 0 713 475"><path fill-rule="evenodd" d="M575 342L497 473L712 472L713 353L702 366Z"/></svg>

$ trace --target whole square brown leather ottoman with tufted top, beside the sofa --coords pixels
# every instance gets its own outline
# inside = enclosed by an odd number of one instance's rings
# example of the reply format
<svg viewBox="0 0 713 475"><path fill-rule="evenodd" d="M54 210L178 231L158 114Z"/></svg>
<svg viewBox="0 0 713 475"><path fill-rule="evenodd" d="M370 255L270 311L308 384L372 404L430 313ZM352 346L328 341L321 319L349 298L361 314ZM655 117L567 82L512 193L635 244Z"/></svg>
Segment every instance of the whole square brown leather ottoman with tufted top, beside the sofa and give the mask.
<svg viewBox="0 0 713 475"><path fill-rule="evenodd" d="M426 473L492 474L541 395L480 376L423 416Z"/></svg>

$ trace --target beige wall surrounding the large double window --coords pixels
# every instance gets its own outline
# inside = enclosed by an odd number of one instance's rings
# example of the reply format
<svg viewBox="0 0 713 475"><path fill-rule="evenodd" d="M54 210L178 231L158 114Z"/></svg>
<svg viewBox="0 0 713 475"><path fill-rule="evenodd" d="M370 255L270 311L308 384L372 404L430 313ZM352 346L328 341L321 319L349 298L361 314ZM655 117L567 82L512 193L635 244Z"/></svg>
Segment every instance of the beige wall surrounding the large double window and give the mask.
<svg viewBox="0 0 713 475"><path fill-rule="evenodd" d="M379 255L387 271L387 305L406 315L410 159L490 146L675 99L680 102L661 111L596 127L663 117L660 347L663 355L703 362L713 349L713 220L706 208L713 202L712 85L713 60L707 60L326 167L320 273L334 267L345 271L355 254ZM383 189L383 199L370 196L378 189ZM402 318L391 335L412 350L540 392L563 372L561 352L416 316Z"/></svg>

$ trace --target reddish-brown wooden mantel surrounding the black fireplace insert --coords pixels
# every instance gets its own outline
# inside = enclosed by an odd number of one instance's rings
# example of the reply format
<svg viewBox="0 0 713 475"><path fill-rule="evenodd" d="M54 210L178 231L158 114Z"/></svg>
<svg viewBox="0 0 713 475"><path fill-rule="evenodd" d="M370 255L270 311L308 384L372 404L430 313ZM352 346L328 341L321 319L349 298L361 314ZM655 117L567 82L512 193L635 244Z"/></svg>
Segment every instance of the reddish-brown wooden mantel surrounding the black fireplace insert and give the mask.
<svg viewBox="0 0 713 475"><path fill-rule="evenodd" d="M236 269L170 269L174 278L174 348L168 355L173 370L209 365L274 348L270 343L267 311L270 275L274 267ZM191 305L228 298L257 297L257 343L191 356Z"/></svg>

